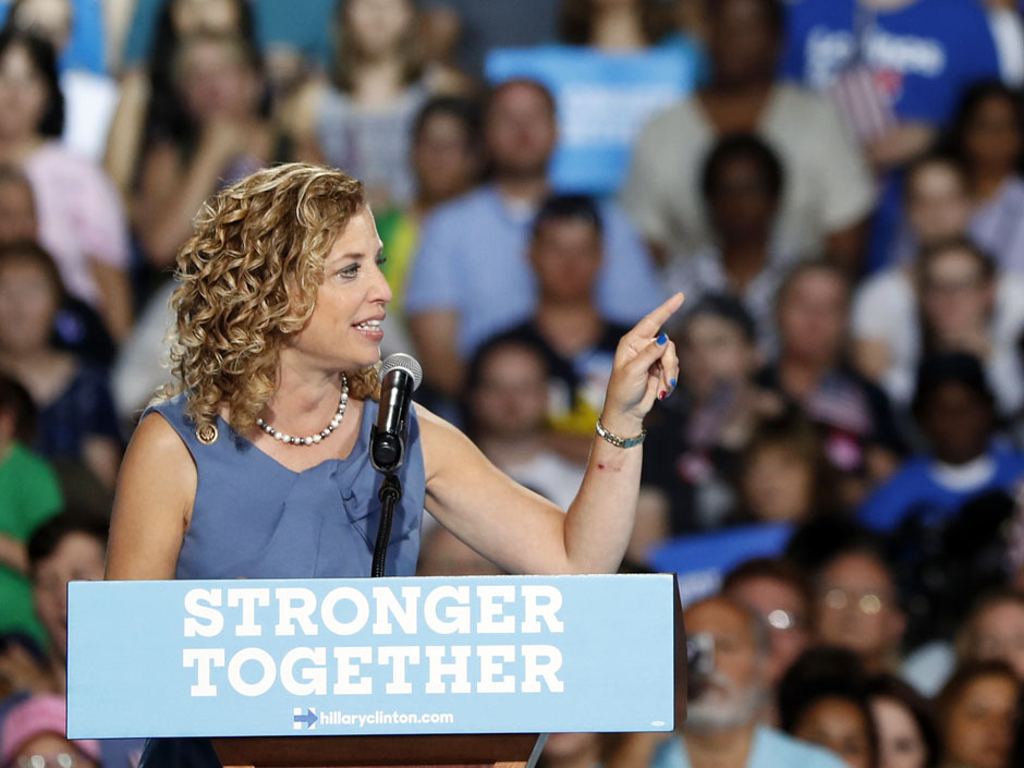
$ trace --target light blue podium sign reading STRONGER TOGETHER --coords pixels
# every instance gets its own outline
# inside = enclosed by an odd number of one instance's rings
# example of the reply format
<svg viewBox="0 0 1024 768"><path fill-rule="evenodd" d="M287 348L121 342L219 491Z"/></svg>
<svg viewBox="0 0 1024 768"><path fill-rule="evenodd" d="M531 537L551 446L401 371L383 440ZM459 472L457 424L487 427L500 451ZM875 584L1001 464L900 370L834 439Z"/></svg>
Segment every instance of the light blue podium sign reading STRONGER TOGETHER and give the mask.
<svg viewBox="0 0 1024 768"><path fill-rule="evenodd" d="M74 582L68 734L671 730L673 576Z"/></svg>

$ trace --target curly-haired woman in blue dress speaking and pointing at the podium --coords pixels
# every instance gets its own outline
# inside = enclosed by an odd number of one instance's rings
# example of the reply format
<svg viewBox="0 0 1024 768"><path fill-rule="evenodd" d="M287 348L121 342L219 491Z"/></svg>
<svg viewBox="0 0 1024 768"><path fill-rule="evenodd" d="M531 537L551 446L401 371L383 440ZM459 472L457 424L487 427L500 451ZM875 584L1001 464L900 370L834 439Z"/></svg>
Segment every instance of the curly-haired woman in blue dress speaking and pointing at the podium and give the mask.
<svg viewBox="0 0 1024 768"><path fill-rule="evenodd" d="M176 382L121 468L108 578L369 574L380 475L368 446L391 298L381 263L363 185L340 171L279 166L209 200L178 257ZM387 574L414 572L424 509L511 573L613 571L633 526L642 422L679 374L660 327L682 301L620 342L568 513L414 406Z"/></svg>

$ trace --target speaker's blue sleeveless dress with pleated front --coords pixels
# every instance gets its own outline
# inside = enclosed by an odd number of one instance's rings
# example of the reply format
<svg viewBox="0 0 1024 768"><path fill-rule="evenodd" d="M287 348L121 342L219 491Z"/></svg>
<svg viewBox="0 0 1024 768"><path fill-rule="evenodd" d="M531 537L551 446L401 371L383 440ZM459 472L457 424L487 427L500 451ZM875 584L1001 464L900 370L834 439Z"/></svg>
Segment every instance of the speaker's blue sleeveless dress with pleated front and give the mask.
<svg viewBox="0 0 1024 768"><path fill-rule="evenodd" d="M174 428L198 473L192 522L176 578L349 578L369 576L380 522L381 476L369 464L377 403L363 405L348 459L292 472L217 418L217 439L205 444L180 394L147 409ZM302 450L296 448L295 450ZM416 570L426 474L415 406L410 411L402 501L394 510L386 575ZM150 739L139 768L217 768L208 739Z"/></svg>

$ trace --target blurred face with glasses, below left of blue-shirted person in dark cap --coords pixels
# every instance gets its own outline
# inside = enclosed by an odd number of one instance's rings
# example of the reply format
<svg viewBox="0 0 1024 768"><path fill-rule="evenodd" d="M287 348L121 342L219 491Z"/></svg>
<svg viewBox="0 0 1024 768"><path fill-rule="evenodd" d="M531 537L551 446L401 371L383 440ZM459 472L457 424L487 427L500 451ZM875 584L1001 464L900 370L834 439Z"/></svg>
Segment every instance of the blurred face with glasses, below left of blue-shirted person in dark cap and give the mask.
<svg viewBox="0 0 1024 768"><path fill-rule="evenodd" d="M854 651L870 673L895 670L906 620L877 551L854 543L833 552L814 581L817 639Z"/></svg>

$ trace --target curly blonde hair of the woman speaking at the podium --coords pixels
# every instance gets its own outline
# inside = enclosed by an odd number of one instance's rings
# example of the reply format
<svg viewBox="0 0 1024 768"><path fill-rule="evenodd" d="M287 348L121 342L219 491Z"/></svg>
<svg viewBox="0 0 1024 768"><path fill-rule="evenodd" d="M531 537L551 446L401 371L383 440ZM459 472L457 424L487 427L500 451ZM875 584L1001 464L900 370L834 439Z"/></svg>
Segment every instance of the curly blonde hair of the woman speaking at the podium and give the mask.
<svg viewBox="0 0 1024 768"><path fill-rule="evenodd" d="M366 205L362 182L292 162L211 197L178 254L170 397L185 392L197 428L220 407L248 435L277 388L281 350L313 315L324 259ZM377 395L377 368L348 373L350 394Z"/></svg>

